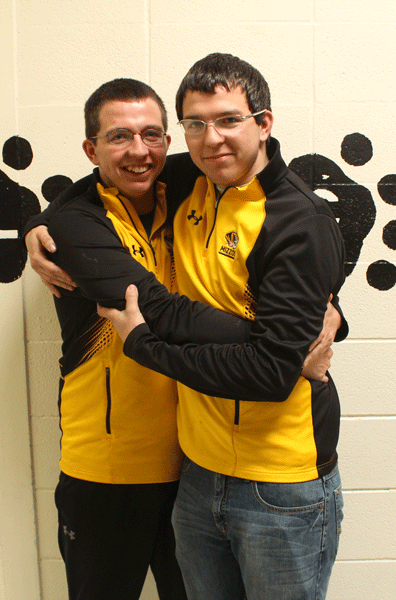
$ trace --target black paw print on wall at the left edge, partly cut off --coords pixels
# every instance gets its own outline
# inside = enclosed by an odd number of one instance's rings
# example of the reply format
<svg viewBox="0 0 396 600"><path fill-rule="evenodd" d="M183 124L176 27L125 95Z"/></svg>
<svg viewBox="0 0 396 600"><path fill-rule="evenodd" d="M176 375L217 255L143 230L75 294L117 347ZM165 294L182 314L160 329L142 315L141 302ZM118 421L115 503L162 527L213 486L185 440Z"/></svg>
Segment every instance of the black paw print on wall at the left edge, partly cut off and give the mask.
<svg viewBox="0 0 396 600"><path fill-rule="evenodd" d="M27 169L32 160L33 152L28 140L13 136L4 143L3 162L7 166L21 171ZM71 183L69 177L55 175L44 181L41 191L44 198L50 202ZM13 181L0 170L1 283L16 281L22 275L27 252L21 234L28 219L40 210L40 202L36 194Z"/></svg>

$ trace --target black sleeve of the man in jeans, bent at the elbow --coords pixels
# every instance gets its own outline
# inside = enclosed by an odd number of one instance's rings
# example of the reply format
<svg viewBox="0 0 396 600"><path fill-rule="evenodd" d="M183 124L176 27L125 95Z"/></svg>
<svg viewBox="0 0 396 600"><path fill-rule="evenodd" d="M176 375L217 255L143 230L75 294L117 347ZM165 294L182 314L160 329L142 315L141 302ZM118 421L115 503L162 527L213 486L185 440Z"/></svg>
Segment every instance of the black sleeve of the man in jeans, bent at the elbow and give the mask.
<svg viewBox="0 0 396 600"><path fill-rule="evenodd" d="M175 346L143 324L126 339L124 353L205 394L284 401L322 329L328 298L343 283L343 258L331 218L316 215L294 223L266 249L249 342Z"/></svg>

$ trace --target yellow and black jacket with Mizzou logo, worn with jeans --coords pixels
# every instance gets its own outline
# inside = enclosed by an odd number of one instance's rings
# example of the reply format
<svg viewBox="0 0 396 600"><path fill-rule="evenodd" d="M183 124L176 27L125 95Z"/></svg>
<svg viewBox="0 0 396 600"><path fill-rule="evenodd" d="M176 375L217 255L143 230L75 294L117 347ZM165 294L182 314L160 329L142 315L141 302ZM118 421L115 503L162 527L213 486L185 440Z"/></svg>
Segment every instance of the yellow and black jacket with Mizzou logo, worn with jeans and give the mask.
<svg viewBox="0 0 396 600"><path fill-rule="evenodd" d="M307 380L301 368L343 283L344 249L327 203L287 168L274 139L268 156L250 183L222 193L186 157L174 219L178 291L254 318L250 341L176 346L143 324L124 352L182 383L179 441L193 461L246 479L301 482L337 460L334 383ZM167 175L177 197L175 161Z"/></svg>

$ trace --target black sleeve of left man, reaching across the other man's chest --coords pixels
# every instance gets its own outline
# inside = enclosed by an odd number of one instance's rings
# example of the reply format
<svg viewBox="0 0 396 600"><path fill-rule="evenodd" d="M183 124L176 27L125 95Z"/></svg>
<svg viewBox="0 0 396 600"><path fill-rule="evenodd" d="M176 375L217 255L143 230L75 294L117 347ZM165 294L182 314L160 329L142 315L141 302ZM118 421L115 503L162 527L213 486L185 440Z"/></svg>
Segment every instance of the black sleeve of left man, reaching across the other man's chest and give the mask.
<svg viewBox="0 0 396 600"><path fill-rule="evenodd" d="M171 343L248 339L248 321L169 293L122 245L104 209L74 200L56 211L48 230L57 247L51 259L79 286L75 292L60 289L63 295L82 294L103 306L123 309L125 290L134 283L147 322Z"/></svg>

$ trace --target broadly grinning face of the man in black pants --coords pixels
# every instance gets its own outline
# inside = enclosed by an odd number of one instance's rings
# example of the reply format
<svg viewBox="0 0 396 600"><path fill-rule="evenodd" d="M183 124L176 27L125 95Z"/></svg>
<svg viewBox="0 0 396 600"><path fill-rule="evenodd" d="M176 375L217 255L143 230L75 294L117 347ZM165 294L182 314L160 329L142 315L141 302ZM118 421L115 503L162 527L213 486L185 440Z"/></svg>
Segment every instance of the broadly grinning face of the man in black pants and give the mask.
<svg viewBox="0 0 396 600"><path fill-rule="evenodd" d="M164 129L160 108L153 98L105 102L99 112L99 122L98 136L115 129L129 129L133 133ZM139 135L125 147L110 144L107 137L99 137L95 142L87 139L83 148L89 160L99 167L105 186L116 187L139 207L147 202L147 208L151 209L154 182L164 167L170 136L164 136L162 144L155 147L146 146Z"/></svg>

